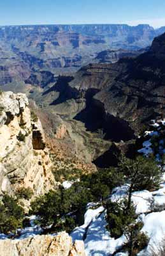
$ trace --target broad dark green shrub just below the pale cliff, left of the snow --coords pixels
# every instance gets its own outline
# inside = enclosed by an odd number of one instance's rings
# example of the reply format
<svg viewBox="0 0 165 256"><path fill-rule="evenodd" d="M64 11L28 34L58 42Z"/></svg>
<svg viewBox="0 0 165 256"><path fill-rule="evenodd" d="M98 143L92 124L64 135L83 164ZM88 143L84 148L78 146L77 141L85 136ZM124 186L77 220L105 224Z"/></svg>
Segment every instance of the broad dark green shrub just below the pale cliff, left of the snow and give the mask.
<svg viewBox="0 0 165 256"><path fill-rule="evenodd" d="M52 230L59 231L67 227L67 223L79 225L83 223L87 202L92 200L89 189L80 184L73 184L71 188L60 187L57 191L49 191L31 202L31 214L39 216L42 227L53 225ZM69 219L68 214L69 215ZM73 220L71 220L71 218ZM65 220L61 222L61 220Z"/></svg>

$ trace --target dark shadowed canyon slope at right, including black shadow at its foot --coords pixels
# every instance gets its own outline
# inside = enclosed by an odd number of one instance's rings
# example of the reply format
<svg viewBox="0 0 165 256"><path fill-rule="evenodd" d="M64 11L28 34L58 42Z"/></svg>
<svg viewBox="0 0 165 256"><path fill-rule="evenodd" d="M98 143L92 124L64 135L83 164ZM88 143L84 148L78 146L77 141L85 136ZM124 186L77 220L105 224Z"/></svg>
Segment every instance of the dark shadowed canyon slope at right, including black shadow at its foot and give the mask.
<svg viewBox="0 0 165 256"><path fill-rule="evenodd" d="M91 130L103 128L108 132L105 138L113 138L114 131L117 136L123 134L118 140L128 140L141 123L163 115L164 45L165 34L155 38L150 49L136 58L81 68L62 92L66 100L85 100L85 108L75 119Z"/></svg>

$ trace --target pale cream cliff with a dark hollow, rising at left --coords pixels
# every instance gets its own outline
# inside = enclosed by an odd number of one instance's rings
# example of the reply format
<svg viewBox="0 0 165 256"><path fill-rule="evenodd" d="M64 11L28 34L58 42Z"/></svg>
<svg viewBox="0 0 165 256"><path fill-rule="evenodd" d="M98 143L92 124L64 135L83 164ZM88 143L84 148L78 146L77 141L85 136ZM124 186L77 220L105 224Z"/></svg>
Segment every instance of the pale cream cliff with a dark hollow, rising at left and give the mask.
<svg viewBox="0 0 165 256"><path fill-rule="evenodd" d="M0 191L31 188L39 195L54 187L51 161L41 122L31 114L27 97L0 95Z"/></svg>

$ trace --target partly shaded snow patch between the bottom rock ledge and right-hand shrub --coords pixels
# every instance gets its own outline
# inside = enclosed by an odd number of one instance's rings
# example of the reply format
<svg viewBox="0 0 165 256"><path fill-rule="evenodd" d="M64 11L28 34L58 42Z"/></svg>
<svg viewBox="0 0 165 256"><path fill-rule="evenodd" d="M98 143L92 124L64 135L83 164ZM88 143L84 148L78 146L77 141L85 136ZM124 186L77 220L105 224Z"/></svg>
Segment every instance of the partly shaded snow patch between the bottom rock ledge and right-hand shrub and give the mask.
<svg viewBox="0 0 165 256"><path fill-rule="evenodd" d="M110 232L106 230L106 212L104 207L88 209L85 213L85 223L81 227L75 228L71 233L73 241L85 238L86 255L108 256L126 242L126 237L118 239L110 237Z"/></svg>

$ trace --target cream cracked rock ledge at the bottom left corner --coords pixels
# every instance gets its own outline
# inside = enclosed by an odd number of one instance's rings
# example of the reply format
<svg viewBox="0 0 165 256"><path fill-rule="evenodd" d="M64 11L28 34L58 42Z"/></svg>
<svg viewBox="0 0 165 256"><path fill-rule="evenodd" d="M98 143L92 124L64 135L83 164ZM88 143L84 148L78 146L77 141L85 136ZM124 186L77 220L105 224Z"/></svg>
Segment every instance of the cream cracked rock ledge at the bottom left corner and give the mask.
<svg viewBox="0 0 165 256"><path fill-rule="evenodd" d="M85 256L83 241L73 244L66 232L57 236L0 240L0 252L2 256Z"/></svg>

